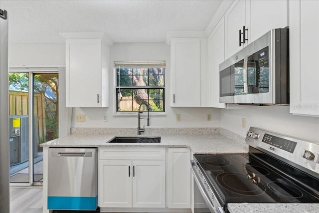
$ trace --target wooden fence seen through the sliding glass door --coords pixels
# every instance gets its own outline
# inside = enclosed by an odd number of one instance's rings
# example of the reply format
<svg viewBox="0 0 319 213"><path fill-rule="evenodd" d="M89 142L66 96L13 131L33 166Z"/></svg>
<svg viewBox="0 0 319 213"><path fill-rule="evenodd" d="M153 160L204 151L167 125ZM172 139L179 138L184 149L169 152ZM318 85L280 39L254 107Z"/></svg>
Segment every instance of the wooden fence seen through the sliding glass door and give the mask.
<svg viewBox="0 0 319 213"><path fill-rule="evenodd" d="M29 115L28 101L28 92L9 91L9 115ZM45 141L44 97L38 93L34 93L33 97L33 116L34 122L37 122L37 136L42 143Z"/></svg>

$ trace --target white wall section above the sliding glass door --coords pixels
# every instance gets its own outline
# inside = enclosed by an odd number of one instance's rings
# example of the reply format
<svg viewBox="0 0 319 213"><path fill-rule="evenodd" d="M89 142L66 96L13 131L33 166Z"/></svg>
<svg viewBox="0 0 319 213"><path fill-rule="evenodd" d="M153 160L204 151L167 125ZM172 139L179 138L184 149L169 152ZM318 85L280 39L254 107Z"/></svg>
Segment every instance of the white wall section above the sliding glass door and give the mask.
<svg viewBox="0 0 319 213"><path fill-rule="evenodd" d="M65 44L9 44L9 66L65 66Z"/></svg>

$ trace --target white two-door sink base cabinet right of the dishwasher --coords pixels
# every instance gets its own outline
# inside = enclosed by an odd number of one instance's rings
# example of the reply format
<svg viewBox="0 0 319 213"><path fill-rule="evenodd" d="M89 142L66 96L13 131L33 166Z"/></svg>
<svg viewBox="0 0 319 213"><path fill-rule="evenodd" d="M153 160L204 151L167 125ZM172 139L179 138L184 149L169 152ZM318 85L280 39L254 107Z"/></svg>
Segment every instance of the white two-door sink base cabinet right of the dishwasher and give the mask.
<svg viewBox="0 0 319 213"><path fill-rule="evenodd" d="M165 148L100 148L99 154L99 207L165 208Z"/></svg>

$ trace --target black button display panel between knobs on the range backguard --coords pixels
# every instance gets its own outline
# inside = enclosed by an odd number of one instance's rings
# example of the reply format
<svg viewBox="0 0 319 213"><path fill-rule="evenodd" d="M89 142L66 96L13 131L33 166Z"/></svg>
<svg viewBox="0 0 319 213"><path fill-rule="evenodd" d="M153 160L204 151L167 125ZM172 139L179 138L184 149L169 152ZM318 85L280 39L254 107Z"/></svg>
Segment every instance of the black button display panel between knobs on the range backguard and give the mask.
<svg viewBox="0 0 319 213"><path fill-rule="evenodd" d="M270 144L279 149L285 150L290 153L294 153L297 143L294 141L286 140L284 138L279 138L274 135L266 134L263 137L262 142Z"/></svg>

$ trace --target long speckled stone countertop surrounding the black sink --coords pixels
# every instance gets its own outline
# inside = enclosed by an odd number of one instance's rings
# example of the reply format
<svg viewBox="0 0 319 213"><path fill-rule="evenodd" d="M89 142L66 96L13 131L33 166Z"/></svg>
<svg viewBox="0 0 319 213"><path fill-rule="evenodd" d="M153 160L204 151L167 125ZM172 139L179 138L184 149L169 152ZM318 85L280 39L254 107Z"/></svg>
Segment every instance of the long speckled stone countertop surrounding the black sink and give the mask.
<svg viewBox="0 0 319 213"><path fill-rule="evenodd" d="M73 134L41 144L43 147L188 147L195 154L247 153L248 146L217 134L169 134L160 143L108 143L116 136ZM139 137L139 136L134 136ZM143 137L143 135L141 136Z"/></svg>

